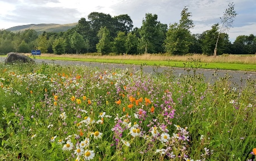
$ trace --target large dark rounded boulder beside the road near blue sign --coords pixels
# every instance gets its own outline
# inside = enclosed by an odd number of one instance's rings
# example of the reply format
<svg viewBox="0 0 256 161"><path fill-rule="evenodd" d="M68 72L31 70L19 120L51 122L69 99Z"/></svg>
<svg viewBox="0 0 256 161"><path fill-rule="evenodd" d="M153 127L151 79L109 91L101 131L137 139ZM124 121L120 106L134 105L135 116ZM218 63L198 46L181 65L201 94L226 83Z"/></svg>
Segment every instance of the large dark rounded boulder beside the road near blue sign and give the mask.
<svg viewBox="0 0 256 161"><path fill-rule="evenodd" d="M28 56L19 54L19 53L8 53L4 63L14 63L14 62L22 62L22 63L33 63L35 62Z"/></svg>

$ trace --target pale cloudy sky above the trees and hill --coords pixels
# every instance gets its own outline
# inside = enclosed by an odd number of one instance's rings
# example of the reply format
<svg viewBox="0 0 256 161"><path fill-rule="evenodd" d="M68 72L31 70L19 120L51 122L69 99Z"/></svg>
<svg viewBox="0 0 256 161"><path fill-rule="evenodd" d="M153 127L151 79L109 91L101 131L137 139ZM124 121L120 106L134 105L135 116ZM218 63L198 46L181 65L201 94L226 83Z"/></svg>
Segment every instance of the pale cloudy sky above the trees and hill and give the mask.
<svg viewBox="0 0 256 161"><path fill-rule="evenodd" d="M168 26L181 18L187 6L195 27L191 33L202 33L220 23L228 4L234 2L238 14L233 28L227 32L234 42L240 35L256 36L255 0L0 0L0 29L38 23L66 24L88 20L91 12L102 12L112 17L128 14L133 26L140 28L146 13L157 14L158 21Z"/></svg>

